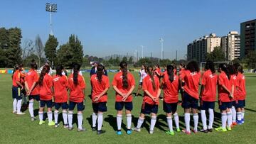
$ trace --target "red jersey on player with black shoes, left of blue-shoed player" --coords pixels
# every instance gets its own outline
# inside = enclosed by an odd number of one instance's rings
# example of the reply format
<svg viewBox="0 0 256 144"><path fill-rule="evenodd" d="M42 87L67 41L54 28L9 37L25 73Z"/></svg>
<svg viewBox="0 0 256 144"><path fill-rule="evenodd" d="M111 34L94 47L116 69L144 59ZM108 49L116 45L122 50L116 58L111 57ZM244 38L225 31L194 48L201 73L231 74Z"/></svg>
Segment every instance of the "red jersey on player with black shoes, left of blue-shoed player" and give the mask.
<svg viewBox="0 0 256 144"><path fill-rule="evenodd" d="M110 80L104 74L102 74L102 81L99 82L97 74L93 74L90 79L92 85L92 103L95 102L96 96L100 95L105 89L110 88ZM107 93L100 97L98 102L107 102Z"/></svg>

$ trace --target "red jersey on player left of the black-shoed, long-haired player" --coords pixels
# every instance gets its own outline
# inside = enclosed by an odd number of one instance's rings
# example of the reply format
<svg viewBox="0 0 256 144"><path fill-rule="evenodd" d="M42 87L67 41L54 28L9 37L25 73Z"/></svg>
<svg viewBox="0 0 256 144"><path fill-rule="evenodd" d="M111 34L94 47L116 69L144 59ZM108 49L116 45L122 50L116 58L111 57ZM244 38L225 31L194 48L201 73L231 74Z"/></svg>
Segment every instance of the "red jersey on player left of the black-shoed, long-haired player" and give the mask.
<svg viewBox="0 0 256 144"><path fill-rule="evenodd" d="M68 77L68 83L70 87L70 101L80 103L85 98L84 89L85 89L85 79L82 75L78 74L78 85L74 84L73 74L70 74Z"/></svg>

